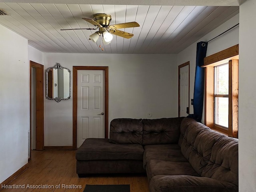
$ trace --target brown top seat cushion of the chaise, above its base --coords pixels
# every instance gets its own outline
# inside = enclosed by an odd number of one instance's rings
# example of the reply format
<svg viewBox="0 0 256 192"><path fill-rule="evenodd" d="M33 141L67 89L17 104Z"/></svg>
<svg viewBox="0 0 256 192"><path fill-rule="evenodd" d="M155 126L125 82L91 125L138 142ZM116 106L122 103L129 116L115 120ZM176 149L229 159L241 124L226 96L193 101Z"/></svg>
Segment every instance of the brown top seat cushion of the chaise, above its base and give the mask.
<svg viewBox="0 0 256 192"><path fill-rule="evenodd" d="M109 139L88 138L76 152L76 160L143 160L140 144L113 144Z"/></svg>

